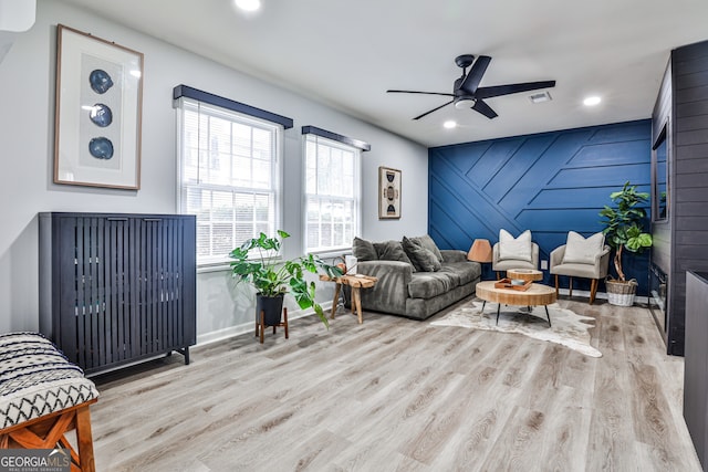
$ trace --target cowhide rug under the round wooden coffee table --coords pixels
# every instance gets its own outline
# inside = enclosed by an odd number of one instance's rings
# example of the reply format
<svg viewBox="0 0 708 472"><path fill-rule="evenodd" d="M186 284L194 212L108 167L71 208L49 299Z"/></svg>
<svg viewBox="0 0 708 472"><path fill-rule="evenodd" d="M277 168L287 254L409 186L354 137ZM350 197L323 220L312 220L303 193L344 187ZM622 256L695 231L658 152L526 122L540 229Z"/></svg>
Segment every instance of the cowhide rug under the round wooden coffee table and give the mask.
<svg viewBox="0 0 708 472"><path fill-rule="evenodd" d="M570 347L586 356L602 357L602 353L590 345L589 329L594 327L594 318L581 316L553 303L548 306L551 315L549 327L543 306L533 306L529 312L525 306L501 305L499 325L497 325L497 306L496 303L487 303L485 313L481 313L482 302L469 302L430 324L519 333L534 339Z"/></svg>

